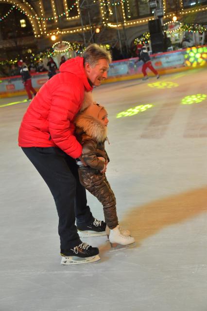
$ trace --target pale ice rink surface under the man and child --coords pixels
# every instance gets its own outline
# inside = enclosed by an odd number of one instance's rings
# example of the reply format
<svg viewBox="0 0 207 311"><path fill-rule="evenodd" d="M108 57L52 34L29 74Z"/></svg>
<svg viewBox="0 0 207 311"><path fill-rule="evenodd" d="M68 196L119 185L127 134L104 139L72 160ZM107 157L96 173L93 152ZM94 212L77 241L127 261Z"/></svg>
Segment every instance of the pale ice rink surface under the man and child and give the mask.
<svg viewBox="0 0 207 311"><path fill-rule="evenodd" d="M52 195L17 146L28 103L0 108L0 311L207 310L206 95L207 69L94 90L109 115L107 177L136 245L83 238L101 261L74 266L60 265Z"/></svg>

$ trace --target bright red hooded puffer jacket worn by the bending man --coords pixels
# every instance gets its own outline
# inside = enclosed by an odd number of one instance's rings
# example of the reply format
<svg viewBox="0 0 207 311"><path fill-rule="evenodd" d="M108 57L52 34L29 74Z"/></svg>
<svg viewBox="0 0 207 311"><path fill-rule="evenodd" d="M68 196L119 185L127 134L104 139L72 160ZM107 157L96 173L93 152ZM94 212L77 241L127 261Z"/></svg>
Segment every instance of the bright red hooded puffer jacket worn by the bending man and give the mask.
<svg viewBox="0 0 207 311"><path fill-rule="evenodd" d="M60 66L60 73L37 92L20 125L19 146L56 146L73 158L81 155L82 146L73 135L73 120L85 91L92 91L83 62L83 57L67 60Z"/></svg>

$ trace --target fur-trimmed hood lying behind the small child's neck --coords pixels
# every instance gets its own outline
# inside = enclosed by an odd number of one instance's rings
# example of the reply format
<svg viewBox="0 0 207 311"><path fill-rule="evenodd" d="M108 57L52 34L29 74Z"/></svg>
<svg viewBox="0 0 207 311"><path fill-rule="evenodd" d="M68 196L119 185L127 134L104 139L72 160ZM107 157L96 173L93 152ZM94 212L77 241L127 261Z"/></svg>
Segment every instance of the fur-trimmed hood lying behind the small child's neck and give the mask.
<svg viewBox="0 0 207 311"><path fill-rule="evenodd" d="M102 143L107 138L107 127L93 116L85 115L84 111L77 115L74 123L78 135L86 133L87 136L96 140L97 143Z"/></svg>

